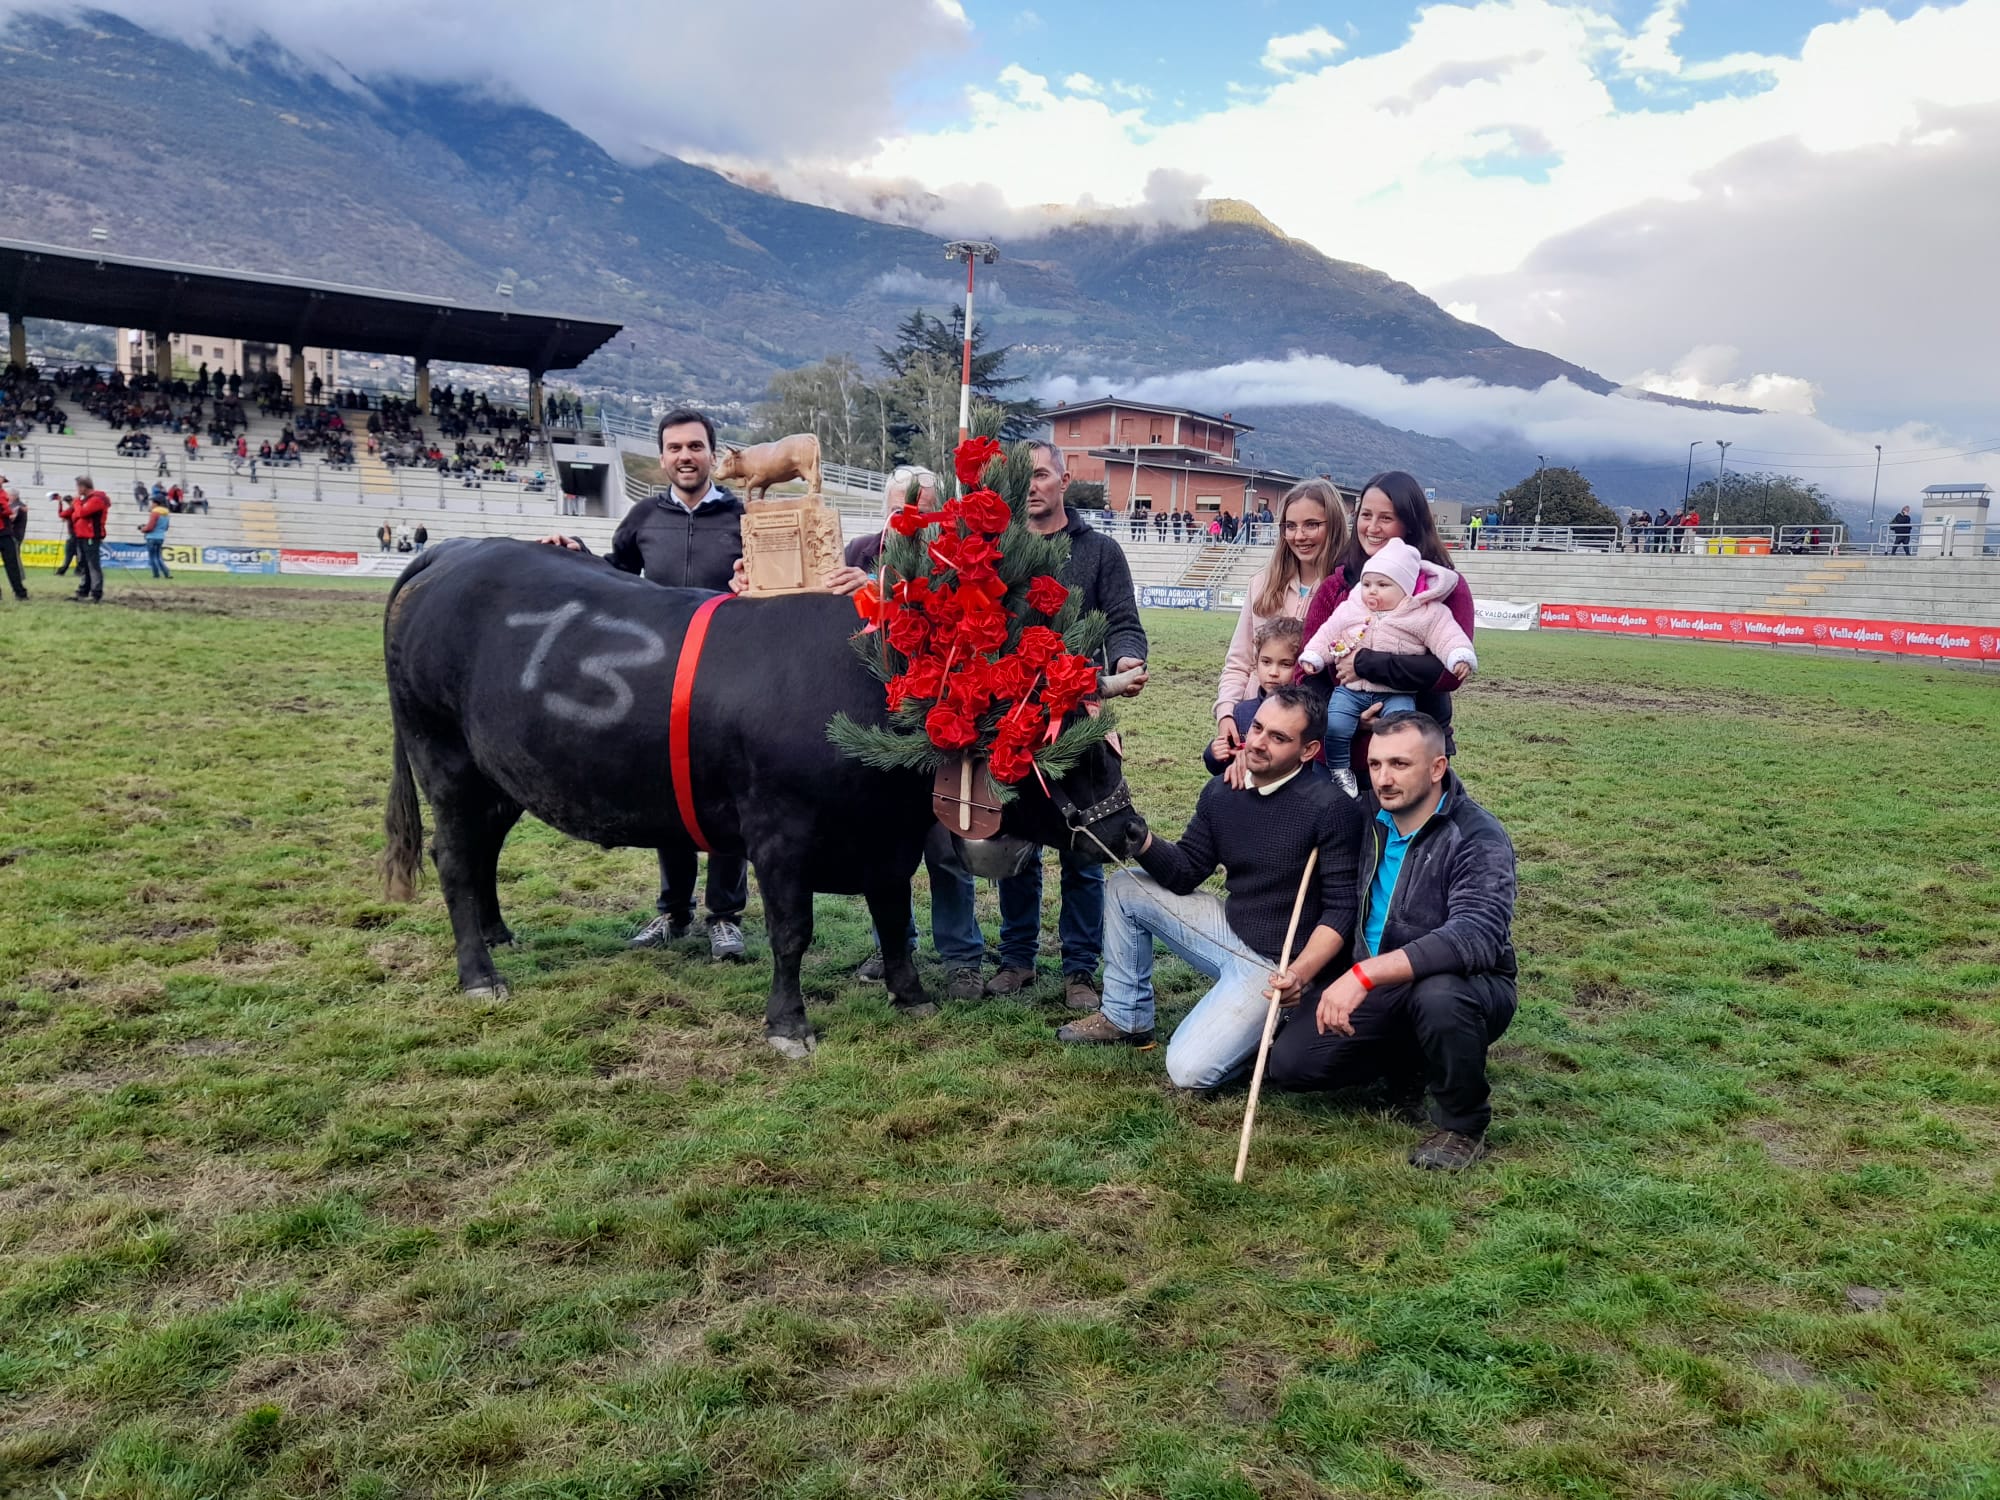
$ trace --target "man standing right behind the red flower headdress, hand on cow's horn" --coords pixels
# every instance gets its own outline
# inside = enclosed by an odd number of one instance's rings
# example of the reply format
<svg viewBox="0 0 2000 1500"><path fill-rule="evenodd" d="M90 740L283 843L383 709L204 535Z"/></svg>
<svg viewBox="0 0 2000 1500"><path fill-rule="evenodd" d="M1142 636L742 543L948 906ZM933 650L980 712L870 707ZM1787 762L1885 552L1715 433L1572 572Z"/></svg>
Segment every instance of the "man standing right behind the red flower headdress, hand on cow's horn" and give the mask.
<svg viewBox="0 0 2000 1500"><path fill-rule="evenodd" d="M1132 674L1124 686L1136 696L1146 686L1146 628L1138 620L1132 568L1110 532L1070 514L1062 490L1070 482L1062 450L1036 442L1034 478L1028 480L1028 530L1042 536L1064 532L1070 562L1062 582L1082 592L1082 606L1104 612L1102 664L1114 674ZM1098 1008L1098 954L1104 950L1104 866L1062 850L1062 990L1070 1010ZM1034 984L1034 952L1042 938L1042 862L1000 882L1000 970L986 982L986 994L1018 994Z"/></svg>

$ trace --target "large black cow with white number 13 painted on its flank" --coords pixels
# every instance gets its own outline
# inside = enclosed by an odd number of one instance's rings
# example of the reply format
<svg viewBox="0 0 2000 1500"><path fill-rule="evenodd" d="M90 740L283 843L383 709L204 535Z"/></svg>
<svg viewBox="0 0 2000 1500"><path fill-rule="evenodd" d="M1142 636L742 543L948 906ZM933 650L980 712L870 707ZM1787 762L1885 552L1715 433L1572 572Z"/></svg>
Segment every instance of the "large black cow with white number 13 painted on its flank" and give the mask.
<svg viewBox="0 0 2000 1500"><path fill-rule="evenodd" d="M424 862L420 784L466 994L506 994L490 944L512 932L494 870L522 812L606 848L690 844L668 720L682 636L710 598L500 538L440 542L396 580L382 632L396 726L382 872L390 900L408 900ZM728 600L710 618L692 694L696 822L712 848L756 868L776 960L764 1034L792 1058L814 1044L798 964L816 890L868 900L894 1004L928 1006L898 938L932 822L930 778L870 770L826 740L840 710L886 718L882 684L848 640L856 628L846 598ZM1030 778L1004 830L1086 852L1102 840L1124 856L1146 824L1098 746L1052 794Z"/></svg>

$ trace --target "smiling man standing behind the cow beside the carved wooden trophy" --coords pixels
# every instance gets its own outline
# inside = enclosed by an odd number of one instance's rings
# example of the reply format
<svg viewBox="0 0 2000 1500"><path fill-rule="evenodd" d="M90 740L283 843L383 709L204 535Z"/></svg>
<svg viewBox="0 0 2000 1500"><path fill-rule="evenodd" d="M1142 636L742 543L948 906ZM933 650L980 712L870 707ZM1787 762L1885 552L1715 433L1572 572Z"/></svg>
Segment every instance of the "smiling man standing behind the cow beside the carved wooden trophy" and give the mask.
<svg viewBox="0 0 2000 1500"><path fill-rule="evenodd" d="M744 552L744 506L714 484L716 426L702 412L678 410L660 418L660 468L668 488L632 506L612 534L608 562L622 572L642 574L668 588L704 588L720 594L732 588L736 560ZM544 542L588 552L574 536L544 536ZM664 948L694 924L692 848L660 850L658 916L640 928L634 948ZM708 952L714 958L744 956L744 906L750 900L750 866L736 854L708 856Z"/></svg>

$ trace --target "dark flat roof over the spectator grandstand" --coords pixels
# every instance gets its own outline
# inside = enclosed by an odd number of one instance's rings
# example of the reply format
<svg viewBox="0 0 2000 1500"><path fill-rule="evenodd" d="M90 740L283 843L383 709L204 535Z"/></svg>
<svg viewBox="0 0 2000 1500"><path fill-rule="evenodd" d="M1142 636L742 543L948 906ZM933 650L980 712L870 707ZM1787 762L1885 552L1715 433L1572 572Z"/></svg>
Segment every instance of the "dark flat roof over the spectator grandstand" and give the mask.
<svg viewBox="0 0 2000 1500"><path fill-rule="evenodd" d="M0 308L104 328L574 370L622 324L0 240Z"/></svg>

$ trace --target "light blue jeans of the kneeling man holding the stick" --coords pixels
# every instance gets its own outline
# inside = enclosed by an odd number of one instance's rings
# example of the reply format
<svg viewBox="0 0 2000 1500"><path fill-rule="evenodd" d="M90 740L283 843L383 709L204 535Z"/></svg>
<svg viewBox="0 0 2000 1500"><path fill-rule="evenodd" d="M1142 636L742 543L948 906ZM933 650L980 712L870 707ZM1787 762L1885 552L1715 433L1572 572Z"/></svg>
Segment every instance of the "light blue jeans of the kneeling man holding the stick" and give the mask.
<svg viewBox="0 0 2000 1500"><path fill-rule="evenodd" d="M1152 1028L1152 942L1158 938L1214 980L1166 1044L1166 1076L1180 1088L1214 1088L1256 1054L1276 968L1254 954L1222 916L1222 898L1186 896L1148 874L1110 878L1104 914L1104 1018L1118 1030Z"/></svg>

